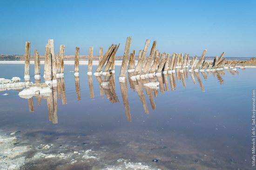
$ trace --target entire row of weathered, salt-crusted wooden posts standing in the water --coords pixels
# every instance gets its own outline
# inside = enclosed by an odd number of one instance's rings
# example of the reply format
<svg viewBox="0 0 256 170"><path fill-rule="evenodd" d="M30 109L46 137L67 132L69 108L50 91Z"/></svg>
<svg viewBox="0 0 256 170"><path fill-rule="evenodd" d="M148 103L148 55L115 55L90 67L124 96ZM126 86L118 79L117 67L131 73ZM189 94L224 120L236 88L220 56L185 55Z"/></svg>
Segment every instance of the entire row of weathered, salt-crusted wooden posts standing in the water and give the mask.
<svg viewBox="0 0 256 170"><path fill-rule="evenodd" d="M148 58L146 58L146 54L148 51L150 40L147 39L144 49L139 51L139 59L138 63L135 66L135 50L133 50L130 54L130 46L131 46L132 38L128 37L125 45L125 50L123 54L121 71L119 80L124 81L127 74L127 66L128 72L132 72L132 80L136 80L139 78L152 77L154 75L160 76L167 73L174 73L175 68L179 68L180 71L185 67L189 67L189 72L198 70L212 70L221 69L224 67L225 58L223 55L225 52L222 52L221 56L214 59L213 63L209 63L205 59L205 54L207 50L202 52L202 55L197 61L197 56L192 57L189 64L189 54L182 53L173 53L170 56L169 53L163 52L162 54L156 49L156 41L153 41L151 51L149 53ZM99 54L99 65L96 68L94 73L95 76L100 76L101 74L106 75L109 71L115 71L115 54L119 48L119 45L112 44L107 52L103 56L103 49L100 48ZM74 59L74 75L79 76L79 53L80 48L75 47L75 59ZM65 46L60 46L60 53L56 53L56 57L54 54L54 40L49 39L48 43L45 47L45 66L44 66L44 78L47 83L56 83L56 78L61 78L64 76L64 55L65 55ZM30 60L30 42L26 42L25 46L25 75L24 78L26 81L29 81L29 60ZM34 51L34 77L35 79L40 78L40 57L37 50ZM226 67L234 67L239 62L230 62ZM93 47L89 47L89 56L88 56L88 75L92 75L92 65L93 65ZM105 65L105 68L103 69Z"/></svg>

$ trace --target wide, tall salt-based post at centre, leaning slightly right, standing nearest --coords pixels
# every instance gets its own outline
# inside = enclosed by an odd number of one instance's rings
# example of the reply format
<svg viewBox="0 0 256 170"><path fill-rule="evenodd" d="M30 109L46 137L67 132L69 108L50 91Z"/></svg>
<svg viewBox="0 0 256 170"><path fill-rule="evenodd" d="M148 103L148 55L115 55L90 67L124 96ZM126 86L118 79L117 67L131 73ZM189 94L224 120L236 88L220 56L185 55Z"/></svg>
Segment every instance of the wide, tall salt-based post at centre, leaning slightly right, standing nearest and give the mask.
<svg viewBox="0 0 256 170"><path fill-rule="evenodd" d="M120 71L120 75L119 75L119 81L121 81L121 82L124 82L124 80L125 80L127 63L128 63L128 55L129 55L131 43L132 43L132 38L127 37L124 54L123 54L122 65L121 65L121 71Z"/></svg>

